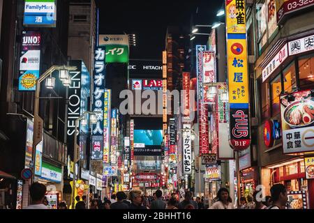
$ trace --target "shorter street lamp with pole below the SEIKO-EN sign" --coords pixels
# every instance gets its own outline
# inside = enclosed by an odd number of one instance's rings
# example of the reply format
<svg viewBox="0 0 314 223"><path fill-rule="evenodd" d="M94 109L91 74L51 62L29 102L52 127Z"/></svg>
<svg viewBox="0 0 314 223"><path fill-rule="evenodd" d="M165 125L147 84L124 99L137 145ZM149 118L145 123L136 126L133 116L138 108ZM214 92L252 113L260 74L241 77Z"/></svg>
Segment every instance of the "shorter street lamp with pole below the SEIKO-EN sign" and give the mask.
<svg viewBox="0 0 314 223"><path fill-rule="evenodd" d="M79 125L79 121L82 121L82 120L86 120L85 116L87 114L90 114L91 115L91 118L90 118L90 121L91 121L91 124L95 124L97 123L97 118L96 118L96 112L84 112L79 118L77 118L75 120L75 130L74 130L74 155L73 155L73 184L72 184L72 209L75 209L75 181L76 181L76 170L75 170L75 164L77 163L77 161L80 160L80 153L77 153L77 150L80 150L80 146L77 146L77 125ZM78 157L77 157L78 156ZM80 162L78 164L78 169L80 169Z"/></svg>

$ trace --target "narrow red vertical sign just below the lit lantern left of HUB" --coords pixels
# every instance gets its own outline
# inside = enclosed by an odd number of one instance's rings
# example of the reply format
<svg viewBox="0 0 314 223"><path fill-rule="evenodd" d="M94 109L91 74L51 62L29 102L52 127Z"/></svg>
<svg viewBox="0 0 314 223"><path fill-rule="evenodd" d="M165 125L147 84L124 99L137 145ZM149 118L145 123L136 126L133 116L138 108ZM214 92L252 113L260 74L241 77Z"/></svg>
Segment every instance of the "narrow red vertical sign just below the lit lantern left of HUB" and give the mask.
<svg viewBox="0 0 314 223"><path fill-rule="evenodd" d="M209 153L208 105L199 104L200 155Z"/></svg>

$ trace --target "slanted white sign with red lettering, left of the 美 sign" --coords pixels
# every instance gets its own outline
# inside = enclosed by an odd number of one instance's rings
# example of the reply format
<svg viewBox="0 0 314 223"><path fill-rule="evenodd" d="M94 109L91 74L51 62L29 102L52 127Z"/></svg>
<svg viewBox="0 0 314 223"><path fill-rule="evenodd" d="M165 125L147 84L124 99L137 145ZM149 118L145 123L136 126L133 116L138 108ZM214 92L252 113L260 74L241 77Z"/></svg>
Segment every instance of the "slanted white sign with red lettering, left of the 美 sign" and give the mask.
<svg viewBox="0 0 314 223"><path fill-rule="evenodd" d="M262 71L263 82L287 59L288 50L287 44L281 48L281 50L276 54L276 56L267 64L267 66Z"/></svg>

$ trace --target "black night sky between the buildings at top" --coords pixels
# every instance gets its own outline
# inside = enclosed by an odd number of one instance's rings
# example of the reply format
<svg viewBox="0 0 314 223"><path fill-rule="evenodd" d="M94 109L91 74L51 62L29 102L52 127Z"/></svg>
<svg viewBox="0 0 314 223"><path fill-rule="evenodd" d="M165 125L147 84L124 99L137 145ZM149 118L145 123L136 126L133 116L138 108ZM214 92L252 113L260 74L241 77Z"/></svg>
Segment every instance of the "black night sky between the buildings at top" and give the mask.
<svg viewBox="0 0 314 223"><path fill-rule="evenodd" d="M100 34L136 34L137 46L130 51L131 59L161 59L165 49L167 26L186 26L190 18L194 24L213 24L223 0L96 0L100 10ZM109 3L108 3L109 2ZM198 8L198 10L197 10ZM196 14L197 11L197 14ZM209 29L201 32L209 33ZM195 43L205 44L198 36ZM197 43L198 44L198 43Z"/></svg>

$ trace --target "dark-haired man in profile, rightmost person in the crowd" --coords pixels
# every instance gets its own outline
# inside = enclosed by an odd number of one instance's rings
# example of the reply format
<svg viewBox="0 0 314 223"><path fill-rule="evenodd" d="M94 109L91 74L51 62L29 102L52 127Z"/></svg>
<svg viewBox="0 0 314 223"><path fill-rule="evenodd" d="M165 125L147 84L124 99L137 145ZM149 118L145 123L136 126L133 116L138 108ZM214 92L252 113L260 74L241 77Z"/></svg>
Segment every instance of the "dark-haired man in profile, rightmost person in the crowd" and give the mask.
<svg viewBox="0 0 314 223"><path fill-rule="evenodd" d="M271 200L273 201L269 209L285 209L287 203L287 189L281 183L271 187Z"/></svg>

